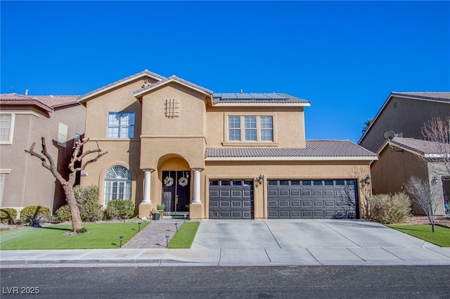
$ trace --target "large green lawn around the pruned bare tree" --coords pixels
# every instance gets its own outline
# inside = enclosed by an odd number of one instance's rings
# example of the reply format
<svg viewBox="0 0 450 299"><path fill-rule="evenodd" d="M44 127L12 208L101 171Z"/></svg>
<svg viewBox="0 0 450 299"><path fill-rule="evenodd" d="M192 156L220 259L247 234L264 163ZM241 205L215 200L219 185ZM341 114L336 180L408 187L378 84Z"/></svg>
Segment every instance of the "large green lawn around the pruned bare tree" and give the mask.
<svg viewBox="0 0 450 299"><path fill-rule="evenodd" d="M142 222L141 230L149 222ZM0 235L0 249L86 249L120 248L138 233L136 222L85 224L88 234L65 236L72 225L51 225L48 227L23 227Z"/></svg>

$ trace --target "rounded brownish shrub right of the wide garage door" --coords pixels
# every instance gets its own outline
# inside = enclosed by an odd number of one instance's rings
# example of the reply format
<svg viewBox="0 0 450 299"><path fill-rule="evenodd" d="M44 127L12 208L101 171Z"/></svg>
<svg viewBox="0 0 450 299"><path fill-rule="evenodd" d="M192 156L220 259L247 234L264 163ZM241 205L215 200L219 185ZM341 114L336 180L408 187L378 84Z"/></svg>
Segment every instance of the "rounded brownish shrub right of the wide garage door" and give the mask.
<svg viewBox="0 0 450 299"><path fill-rule="evenodd" d="M411 199L403 192L373 195L368 204L372 218L381 223L401 223L411 215Z"/></svg>

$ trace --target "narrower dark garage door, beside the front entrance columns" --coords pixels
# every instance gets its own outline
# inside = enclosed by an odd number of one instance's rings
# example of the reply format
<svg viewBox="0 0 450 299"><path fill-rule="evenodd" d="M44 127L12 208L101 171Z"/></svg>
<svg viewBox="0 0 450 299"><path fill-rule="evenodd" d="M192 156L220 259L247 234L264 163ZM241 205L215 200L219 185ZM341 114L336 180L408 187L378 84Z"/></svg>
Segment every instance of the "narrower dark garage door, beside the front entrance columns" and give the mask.
<svg viewBox="0 0 450 299"><path fill-rule="evenodd" d="M210 180L210 219L252 218L252 180Z"/></svg>

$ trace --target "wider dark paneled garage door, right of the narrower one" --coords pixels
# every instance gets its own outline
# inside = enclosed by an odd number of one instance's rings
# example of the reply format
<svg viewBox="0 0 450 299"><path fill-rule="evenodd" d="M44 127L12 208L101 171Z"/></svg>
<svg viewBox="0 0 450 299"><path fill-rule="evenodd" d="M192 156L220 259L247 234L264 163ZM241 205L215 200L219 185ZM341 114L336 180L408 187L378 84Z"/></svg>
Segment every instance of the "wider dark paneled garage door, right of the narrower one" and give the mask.
<svg viewBox="0 0 450 299"><path fill-rule="evenodd" d="M269 180L269 219L355 218L356 180Z"/></svg>

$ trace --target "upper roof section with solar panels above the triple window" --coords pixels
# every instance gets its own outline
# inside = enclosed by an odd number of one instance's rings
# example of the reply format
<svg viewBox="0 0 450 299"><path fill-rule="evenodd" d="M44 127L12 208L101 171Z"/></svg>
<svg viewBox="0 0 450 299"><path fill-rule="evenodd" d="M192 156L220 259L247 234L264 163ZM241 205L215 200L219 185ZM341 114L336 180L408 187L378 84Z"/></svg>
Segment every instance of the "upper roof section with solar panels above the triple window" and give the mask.
<svg viewBox="0 0 450 299"><path fill-rule="evenodd" d="M304 103L309 101L285 93L214 93L214 102L234 103Z"/></svg>

